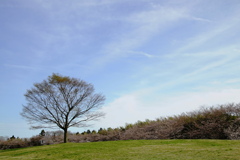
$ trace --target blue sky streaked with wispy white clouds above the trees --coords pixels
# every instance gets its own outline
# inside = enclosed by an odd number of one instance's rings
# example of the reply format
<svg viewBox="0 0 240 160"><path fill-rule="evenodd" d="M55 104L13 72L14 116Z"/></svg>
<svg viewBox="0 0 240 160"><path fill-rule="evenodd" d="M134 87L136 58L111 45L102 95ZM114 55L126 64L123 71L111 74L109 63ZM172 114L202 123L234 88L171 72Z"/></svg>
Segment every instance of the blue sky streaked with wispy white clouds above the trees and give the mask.
<svg viewBox="0 0 240 160"><path fill-rule="evenodd" d="M0 136L40 133L20 112L27 89L52 73L106 96L106 116L72 132L239 103L239 8L239 0L1 0Z"/></svg>

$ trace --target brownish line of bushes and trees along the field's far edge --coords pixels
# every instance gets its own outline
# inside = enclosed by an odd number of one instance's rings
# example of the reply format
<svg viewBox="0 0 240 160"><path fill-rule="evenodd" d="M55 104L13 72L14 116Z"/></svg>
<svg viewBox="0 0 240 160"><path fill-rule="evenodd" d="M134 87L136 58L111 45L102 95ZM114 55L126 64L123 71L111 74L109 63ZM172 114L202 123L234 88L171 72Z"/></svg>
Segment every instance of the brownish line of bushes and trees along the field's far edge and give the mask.
<svg viewBox="0 0 240 160"><path fill-rule="evenodd" d="M138 139L240 139L240 103L212 107L181 115L162 117L156 120L137 121L118 128L100 128L98 131L82 133L68 132L69 142L96 142ZM0 148L6 149L22 139L0 141ZM40 143L41 141L41 143ZM27 145L63 143L63 132L45 132L30 138ZM5 145L5 147L4 147ZM19 148L16 147L16 148Z"/></svg>

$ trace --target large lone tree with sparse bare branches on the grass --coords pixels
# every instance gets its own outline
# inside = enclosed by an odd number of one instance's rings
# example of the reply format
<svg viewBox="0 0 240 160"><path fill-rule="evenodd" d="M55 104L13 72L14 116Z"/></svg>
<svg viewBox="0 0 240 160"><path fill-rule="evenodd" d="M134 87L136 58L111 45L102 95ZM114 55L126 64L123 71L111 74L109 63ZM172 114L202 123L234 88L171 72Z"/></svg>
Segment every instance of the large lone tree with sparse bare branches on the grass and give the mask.
<svg viewBox="0 0 240 160"><path fill-rule="evenodd" d="M98 109L105 97L94 93L94 87L83 80L52 74L27 90L26 105L21 115L33 129L58 127L67 142L69 127L85 126L86 122L104 116ZM33 125L35 124L35 125Z"/></svg>

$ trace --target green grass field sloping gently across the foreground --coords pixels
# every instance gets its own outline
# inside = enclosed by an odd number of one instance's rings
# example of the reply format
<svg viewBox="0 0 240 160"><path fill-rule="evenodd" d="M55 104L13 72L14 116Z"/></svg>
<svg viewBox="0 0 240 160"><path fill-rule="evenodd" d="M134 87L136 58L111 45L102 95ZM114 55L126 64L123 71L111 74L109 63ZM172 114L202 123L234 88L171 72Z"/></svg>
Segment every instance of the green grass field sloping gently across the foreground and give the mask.
<svg viewBox="0 0 240 160"><path fill-rule="evenodd" d="M67 143L1 150L0 159L240 160L240 141L129 140Z"/></svg>

